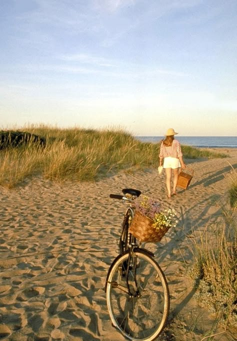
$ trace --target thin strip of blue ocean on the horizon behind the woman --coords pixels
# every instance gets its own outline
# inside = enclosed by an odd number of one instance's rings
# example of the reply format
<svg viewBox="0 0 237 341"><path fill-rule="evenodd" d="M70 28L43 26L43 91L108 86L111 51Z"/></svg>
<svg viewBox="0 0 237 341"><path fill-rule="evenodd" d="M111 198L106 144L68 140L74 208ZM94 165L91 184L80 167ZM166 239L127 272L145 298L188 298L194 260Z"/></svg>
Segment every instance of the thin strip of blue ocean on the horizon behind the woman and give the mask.
<svg viewBox="0 0 237 341"><path fill-rule="evenodd" d="M135 136L142 142L156 143L164 136ZM237 136L175 136L181 144L199 148L237 148Z"/></svg>

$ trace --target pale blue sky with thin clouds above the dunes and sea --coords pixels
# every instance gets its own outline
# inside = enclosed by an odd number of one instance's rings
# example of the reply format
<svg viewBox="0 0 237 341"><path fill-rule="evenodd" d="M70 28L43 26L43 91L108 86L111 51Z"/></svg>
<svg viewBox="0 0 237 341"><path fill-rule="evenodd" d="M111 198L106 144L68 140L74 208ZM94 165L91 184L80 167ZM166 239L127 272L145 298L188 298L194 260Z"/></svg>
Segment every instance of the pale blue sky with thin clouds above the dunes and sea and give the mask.
<svg viewBox="0 0 237 341"><path fill-rule="evenodd" d="M0 0L0 127L236 135L236 0Z"/></svg>

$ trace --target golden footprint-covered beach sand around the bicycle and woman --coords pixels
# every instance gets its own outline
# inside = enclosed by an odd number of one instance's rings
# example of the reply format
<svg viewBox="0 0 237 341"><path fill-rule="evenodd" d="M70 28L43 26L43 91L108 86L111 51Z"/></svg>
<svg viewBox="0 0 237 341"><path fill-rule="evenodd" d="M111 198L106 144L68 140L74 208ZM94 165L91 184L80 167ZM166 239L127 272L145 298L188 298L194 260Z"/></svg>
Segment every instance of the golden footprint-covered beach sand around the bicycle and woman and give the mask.
<svg viewBox="0 0 237 341"><path fill-rule="evenodd" d="M94 183L58 184L35 177L11 190L0 188L0 338L124 340L111 326L104 285L118 254L125 209L109 193L132 187L174 208L179 219L161 242L145 244L164 270L171 297L169 321L158 339L201 340L215 316L197 304L187 274L187 243L193 229L221 219L237 150L221 151L228 157L185 160L194 169L193 179L170 200L164 172L159 176L156 169L122 171ZM227 339L233 338L213 338Z"/></svg>

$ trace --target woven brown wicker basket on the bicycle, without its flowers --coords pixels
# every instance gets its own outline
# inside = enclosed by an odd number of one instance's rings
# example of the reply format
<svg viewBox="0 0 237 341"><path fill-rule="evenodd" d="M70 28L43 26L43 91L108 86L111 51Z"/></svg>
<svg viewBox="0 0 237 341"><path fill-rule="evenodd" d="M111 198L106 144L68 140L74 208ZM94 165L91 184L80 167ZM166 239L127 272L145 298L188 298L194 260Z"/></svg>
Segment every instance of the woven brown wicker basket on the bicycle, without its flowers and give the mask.
<svg viewBox="0 0 237 341"><path fill-rule="evenodd" d="M157 230L152 226L153 220L136 211L131 221L129 232L140 241L160 241L169 227L164 226Z"/></svg>

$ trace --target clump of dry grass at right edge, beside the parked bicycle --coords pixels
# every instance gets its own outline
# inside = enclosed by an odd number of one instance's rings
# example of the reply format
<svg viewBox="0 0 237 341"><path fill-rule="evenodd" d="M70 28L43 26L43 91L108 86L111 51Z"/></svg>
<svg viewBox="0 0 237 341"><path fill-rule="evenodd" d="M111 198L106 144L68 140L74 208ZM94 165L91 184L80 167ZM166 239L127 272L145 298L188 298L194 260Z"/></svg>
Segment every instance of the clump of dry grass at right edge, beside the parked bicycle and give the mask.
<svg viewBox="0 0 237 341"><path fill-rule="evenodd" d="M197 298L217 313L225 330L237 323L237 223L226 200L221 203L222 221L207 224L204 231L193 230L190 247Z"/></svg>

